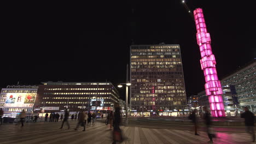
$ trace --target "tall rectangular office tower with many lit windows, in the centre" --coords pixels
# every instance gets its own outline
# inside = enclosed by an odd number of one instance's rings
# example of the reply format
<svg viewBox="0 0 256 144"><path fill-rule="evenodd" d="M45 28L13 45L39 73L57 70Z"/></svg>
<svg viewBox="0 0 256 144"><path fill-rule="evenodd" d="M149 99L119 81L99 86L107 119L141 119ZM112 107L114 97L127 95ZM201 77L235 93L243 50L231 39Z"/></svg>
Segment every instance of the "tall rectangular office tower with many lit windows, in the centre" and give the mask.
<svg viewBox="0 0 256 144"><path fill-rule="evenodd" d="M132 45L131 114L177 116L187 109L179 45Z"/></svg>

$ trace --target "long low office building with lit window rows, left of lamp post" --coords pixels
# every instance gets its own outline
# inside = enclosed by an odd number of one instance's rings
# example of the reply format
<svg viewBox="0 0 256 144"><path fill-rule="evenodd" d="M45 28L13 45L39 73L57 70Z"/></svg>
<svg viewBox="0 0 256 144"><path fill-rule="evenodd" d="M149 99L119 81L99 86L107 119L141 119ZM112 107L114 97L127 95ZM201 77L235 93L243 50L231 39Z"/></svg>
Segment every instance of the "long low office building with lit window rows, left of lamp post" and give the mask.
<svg viewBox="0 0 256 144"><path fill-rule="evenodd" d="M110 82L42 82L39 85L35 109L37 112L59 112L67 107L106 113L119 103L119 93Z"/></svg>

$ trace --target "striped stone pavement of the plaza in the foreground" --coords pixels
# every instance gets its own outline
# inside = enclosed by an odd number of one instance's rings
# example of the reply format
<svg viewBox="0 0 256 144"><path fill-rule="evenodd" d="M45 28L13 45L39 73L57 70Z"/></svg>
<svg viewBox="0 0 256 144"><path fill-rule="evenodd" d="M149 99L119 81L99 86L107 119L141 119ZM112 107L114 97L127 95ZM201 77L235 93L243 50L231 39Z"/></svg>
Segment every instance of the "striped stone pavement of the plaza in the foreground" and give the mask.
<svg viewBox="0 0 256 144"><path fill-rule="evenodd" d="M65 125L59 129L61 122L26 123L24 127L15 124L4 124L0 127L0 143L112 143L112 131L104 124L96 122L94 126L86 127L82 131L74 131L77 121L69 121L71 129ZM190 130L176 130L168 128L121 127L125 137L122 143L207 143L209 141L205 132L199 131L195 136ZM252 143L251 137L246 133L217 133L214 143Z"/></svg>

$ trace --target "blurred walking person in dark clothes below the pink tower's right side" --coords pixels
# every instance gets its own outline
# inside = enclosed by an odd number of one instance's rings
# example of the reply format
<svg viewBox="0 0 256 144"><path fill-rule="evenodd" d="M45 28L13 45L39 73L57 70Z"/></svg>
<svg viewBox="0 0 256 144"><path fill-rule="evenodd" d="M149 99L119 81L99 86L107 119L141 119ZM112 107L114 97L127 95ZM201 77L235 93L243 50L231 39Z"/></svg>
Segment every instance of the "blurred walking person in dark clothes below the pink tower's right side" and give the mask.
<svg viewBox="0 0 256 144"><path fill-rule="evenodd" d="M210 139L210 141L208 141L208 142L213 143L212 138L215 137L215 135L214 135L214 131L212 128L211 113L208 111L207 107L203 107L203 110L205 111L205 113L203 115L203 119L205 119L207 134Z"/></svg>

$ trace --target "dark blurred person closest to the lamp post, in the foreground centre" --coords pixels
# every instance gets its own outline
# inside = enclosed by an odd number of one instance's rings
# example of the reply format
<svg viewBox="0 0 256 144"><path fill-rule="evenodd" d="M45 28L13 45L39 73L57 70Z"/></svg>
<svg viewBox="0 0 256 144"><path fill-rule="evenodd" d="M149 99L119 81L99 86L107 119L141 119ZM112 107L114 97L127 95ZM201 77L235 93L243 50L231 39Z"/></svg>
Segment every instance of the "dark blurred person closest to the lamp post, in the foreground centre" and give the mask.
<svg viewBox="0 0 256 144"><path fill-rule="evenodd" d="M117 142L122 142L123 141L123 136L121 133L121 129L119 127L120 122L121 122L121 115L120 115L120 106L117 104L115 107L115 112L114 112L114 130L113 130L113 143Z"/></svg>

